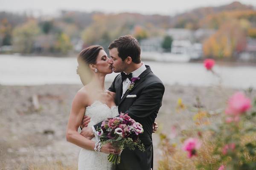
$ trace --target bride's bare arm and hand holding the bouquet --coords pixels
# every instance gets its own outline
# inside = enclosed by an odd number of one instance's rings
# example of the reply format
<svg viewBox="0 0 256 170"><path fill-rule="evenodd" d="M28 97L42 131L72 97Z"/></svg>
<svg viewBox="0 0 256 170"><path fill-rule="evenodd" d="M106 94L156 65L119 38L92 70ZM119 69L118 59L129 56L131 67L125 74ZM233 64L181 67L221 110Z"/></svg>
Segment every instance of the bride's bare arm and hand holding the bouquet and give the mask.
<svg viewBox="0 0 256 170"><path fill-rule="evenodd" d="M85 138L77 132L87 106L87 101L85 99L87 99L87 95L81 91L79 91L73 99L67 123L66 138L68 142L76 144L77 146L87 150L94 150L95 142ZM103 145L101 152L118 154L118 150L115 150L110 143Z"/></svg>

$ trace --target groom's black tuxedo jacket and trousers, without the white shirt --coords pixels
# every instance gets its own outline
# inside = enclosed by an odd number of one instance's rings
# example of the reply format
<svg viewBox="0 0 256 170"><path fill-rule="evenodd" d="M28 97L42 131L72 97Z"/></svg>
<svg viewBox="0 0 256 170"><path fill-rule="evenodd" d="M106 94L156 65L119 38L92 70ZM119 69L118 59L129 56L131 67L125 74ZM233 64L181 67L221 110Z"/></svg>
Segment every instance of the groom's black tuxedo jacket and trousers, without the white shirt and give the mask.
<svg viewBox="0 0 256 170"><path fill-rule="evenodd" d="M162 105L164 86L161 80L153 74L150 67L140 74L140 79L135 82L134 88L127 90L122 96L122 78L118 74L109 91L115 92L115 102L119 113L128 113L136 122L140 122L144 132L139 138L145 145L145 152L138 149L132 151L125 149L121 153L121 163L116 170L150 170L153 168L152 125ZM133 97L127 97L133 95ZM136 97L134 97L136 95ZM101 122L95 125L100 127Z"/></svg>

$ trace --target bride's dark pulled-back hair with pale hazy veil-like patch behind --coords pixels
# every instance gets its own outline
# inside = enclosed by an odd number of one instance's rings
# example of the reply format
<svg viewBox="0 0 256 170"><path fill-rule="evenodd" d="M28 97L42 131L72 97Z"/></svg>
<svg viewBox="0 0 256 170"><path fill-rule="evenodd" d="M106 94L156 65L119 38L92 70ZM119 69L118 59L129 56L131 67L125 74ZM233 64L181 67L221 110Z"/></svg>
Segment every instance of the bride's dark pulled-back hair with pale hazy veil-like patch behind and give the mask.
<svg viewBox="0 0 256 170"><path fill-rule="evenodd" d="M91 45L90 47L84 48L77 57L78 67L77 74L79 74L83 85L90 82L92 78L92 71L89 64L96 64L96 59L99 55L99 51L104 50L100 45Z"/></svg>

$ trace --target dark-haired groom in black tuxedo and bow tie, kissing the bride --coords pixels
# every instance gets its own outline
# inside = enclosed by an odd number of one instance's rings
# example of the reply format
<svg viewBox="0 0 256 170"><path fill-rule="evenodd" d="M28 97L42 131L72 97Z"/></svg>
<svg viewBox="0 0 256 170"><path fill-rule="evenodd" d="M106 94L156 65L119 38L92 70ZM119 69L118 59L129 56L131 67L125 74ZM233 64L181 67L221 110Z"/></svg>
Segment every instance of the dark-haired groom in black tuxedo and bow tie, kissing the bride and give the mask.
<svg viewBox="0 0 256 170"><path fill-rule="evenodd" d="M116 170L153 169L152 125L162 105L165 90L163 83L153 74L148 65L144 65L140 61L140 46L134 37L119 37L111 42L108 49L113 71L121 72L115 77L108 90L116 93L115 102L118 105L119 113L128 113L144 129L139 138L145 145L145 152L123 150L121 162L117 165ZM134 79L131 79L133 77L139 77L140 79L134 81ZM94 128L97 129L100 125L101 122L94 125ZM84 135L91 138L94 133L88 128L83 128L88 132Z"/></svg>

